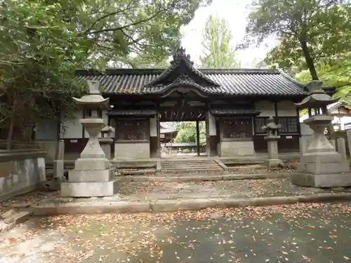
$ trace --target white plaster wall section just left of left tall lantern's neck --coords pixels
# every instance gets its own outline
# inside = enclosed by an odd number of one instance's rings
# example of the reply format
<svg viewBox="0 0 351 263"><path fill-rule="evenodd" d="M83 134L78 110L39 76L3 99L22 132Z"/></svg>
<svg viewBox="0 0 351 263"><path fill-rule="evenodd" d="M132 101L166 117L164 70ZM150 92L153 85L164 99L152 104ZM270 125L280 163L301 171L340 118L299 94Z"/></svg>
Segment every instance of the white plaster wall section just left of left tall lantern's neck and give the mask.
<svg viewBox="0 0 351 263"><path fill-rule="evenodd" d="M60 138L61 139L79 139L82 137L81 123L79 119L83 118L83 112L74 112L74 119L62 120L60 125Z"/></svg>

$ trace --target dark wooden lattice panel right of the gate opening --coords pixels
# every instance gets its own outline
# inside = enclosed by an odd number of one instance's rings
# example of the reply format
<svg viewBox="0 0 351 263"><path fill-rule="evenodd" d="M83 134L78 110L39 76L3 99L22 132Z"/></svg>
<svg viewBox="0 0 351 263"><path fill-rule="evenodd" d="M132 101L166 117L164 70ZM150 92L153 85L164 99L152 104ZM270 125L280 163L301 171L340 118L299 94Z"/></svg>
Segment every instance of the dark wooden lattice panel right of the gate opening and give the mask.
<svg viewBox="0 0 351 263"><path fill-rule="evenodd" d="M247 138L252 135L251 119L221 119L220 131L222 138Z"/></svg>

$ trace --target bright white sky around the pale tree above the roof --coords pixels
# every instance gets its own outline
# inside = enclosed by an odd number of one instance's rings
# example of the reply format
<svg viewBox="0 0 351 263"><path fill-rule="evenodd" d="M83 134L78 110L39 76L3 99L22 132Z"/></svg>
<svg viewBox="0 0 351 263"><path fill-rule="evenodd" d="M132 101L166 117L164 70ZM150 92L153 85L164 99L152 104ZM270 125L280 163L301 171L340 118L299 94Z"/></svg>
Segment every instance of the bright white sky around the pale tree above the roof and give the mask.
<svg viewBox="0 0 351 263"><path fill-rule="evenodd" d="M201 46L202 32L209 15L225 18L228 21L233 36L232 45L240 41L245 34L246 18L249 15L247 6L251 0L213 0L210 6L199 8L194 19L183 28L183 48L190 54L191 59L199 63L199 56L203 52ZM269 41L260 48L240 50L238 58L241 67L255 67L256 62L263 60L267 51L276 45L276 41Z"/></svg>

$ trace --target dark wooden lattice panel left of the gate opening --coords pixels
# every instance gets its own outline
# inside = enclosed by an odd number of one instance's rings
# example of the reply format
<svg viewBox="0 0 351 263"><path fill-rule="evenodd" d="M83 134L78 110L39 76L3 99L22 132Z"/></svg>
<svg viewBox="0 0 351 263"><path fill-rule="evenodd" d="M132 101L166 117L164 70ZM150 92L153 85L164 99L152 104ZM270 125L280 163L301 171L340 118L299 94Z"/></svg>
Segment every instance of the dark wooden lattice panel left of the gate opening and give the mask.
<svg viewBox="0 0 351 263"><path fill-rule="evenodd" d="M149 140L149 119L118 120L116 124L116 140Z"/></svg>

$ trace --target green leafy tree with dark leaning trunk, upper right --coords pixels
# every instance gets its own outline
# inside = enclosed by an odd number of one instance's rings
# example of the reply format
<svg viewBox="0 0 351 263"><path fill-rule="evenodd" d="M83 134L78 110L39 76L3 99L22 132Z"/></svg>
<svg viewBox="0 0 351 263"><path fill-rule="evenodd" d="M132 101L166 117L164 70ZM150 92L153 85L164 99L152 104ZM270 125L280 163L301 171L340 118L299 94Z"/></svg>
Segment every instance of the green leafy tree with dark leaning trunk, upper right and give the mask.
<svg viewBox="0 0 351 263"><path fill-rule="evenodd" d="M261 0L253 6L244 46L277 36L280 45L266 62L291 72L308 68L318 79L316 62L338 59L350 50L350 14L350 5L339 0Z"/></svg>

